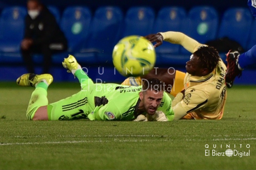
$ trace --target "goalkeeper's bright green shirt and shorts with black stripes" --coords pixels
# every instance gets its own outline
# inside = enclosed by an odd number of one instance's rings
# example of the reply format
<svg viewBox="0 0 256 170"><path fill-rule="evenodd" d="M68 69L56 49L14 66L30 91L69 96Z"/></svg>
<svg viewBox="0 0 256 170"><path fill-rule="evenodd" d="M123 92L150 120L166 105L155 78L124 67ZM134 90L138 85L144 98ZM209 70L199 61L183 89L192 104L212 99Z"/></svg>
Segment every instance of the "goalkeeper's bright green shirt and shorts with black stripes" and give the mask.
<svg viewBox="0 0 256 170"><path fill-rule="evenodd" d="M77 94L49 105L51 120L88 117L90 120L131 121L135 118L134 115L137 115L142 86L94 84L88 79L81 84L81 87L82 90ZM165 92L157 110L163 111L168 120L173 120L171 99Z"/></svg>

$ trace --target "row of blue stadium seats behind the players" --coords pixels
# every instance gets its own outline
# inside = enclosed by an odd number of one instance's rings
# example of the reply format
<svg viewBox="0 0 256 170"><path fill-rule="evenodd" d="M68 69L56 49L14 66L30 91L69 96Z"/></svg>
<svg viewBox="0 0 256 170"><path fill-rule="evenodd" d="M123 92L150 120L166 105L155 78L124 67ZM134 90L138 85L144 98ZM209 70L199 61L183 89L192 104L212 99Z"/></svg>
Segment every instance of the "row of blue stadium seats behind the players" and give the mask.
<svg viewBox="0 0 256 170"><path fill-rule="evenodd" d="M67 7L62 15L54 6L49 6L62 31L69 49L80 62L112 65L114 45L124 36L165 31L181 31L206 43L220 37L237 41L244 49L256 44L256 22L248 8L229 8L223 16L211 6L197 6L188 12L183 7L163 7L156 14L151 7L131 7L124 14L117 6L99 7L92 14L88 7ZM19 44L23 38L25 7L13 6L3 9L0 16L0 57L8 63L21 63ZM220 19L221 18L221 19ZM175 44L163 43L156 48L157 64L184 65L189 52ZM63 60L56 54L54 63ZM34 60L41 62L40 56Z"/></svg>

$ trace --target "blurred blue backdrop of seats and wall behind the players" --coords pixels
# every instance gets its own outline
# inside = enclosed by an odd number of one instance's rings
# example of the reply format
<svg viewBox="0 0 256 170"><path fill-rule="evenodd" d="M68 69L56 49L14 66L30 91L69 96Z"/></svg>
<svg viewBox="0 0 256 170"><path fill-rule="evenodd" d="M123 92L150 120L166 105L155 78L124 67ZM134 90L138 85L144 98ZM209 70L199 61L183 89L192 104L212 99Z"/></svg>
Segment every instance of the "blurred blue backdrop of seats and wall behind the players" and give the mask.
<svg viewBox="0 0 256 170"><path fill-rule="evenodd" d="M221 37L237 41L247 50L256 44L256 22L247 1L42 1L55 15L69 41L69 49L53 56L50 73L55 81L76 81L62 68L67 54L74 54L88 69L89 76L105 82L124 79L113 68L111 53L119 39L126 35L145 36L164 31L181 31L206 43ZM6 9L10 8L9 11ZM26 1L0 1L0 81L15 81L26 73L19 52L23 37ZM16 16L18 11L19 17ZM74 18L79 11L80 18ZM72 15L74 14L74 15ZM73 17L73 18L72 18ZM228 52L228 51L227 51ZM190 54L181 46L164 43L156 48L156 67L174 67L185 71ZM220 52L225 60L225 52ZM36 71L40 73L42 56L35 55ZM244 70L238 84L256 84L254 67Z"/></svg>

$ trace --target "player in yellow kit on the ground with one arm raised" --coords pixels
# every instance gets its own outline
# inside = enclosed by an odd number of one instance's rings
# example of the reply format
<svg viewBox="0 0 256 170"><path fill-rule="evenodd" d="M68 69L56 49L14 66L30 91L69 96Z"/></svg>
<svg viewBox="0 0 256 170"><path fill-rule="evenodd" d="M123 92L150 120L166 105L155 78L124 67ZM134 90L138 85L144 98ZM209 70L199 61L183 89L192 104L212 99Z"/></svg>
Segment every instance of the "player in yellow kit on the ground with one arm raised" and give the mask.
<svg viewBox="0 0 256 170"><path fill-rule="evenodd" d="M146 38L156 42L155 47L164 40L180 44L192 53L186 62L187 73L183 84L176 84L185 90L179 92L172 101L174 119L221 119L226 101L224 76L227 68L218 52L181 32L151 34ZM182 77L182 74L177 73L169 74L167 69L161 69L155 74L155 70L152 70L142 78L158 77L168 86L173 83L173 78Z"/></svg>

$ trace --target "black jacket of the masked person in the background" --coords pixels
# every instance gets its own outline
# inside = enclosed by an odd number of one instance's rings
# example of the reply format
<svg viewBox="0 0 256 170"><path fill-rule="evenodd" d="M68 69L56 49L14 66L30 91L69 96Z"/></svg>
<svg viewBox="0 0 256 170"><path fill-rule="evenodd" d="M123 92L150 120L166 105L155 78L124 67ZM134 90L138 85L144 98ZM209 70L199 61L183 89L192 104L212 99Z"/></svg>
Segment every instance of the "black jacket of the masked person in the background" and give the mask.
<svg viewBox="0 0 256 170"><path fill-rule="evenodd" d="M34 45L44 43L67 44L67 39L59 28L55 17L46 7L43 7L43 10L34 20L29 15L26 16L24 38L32 38Z"/></svg>

